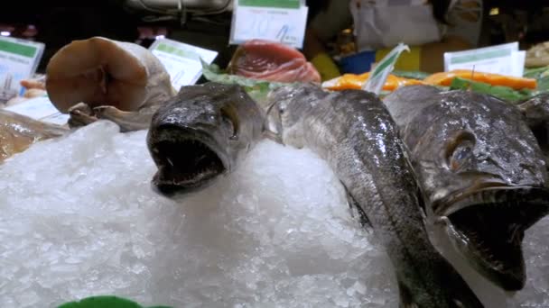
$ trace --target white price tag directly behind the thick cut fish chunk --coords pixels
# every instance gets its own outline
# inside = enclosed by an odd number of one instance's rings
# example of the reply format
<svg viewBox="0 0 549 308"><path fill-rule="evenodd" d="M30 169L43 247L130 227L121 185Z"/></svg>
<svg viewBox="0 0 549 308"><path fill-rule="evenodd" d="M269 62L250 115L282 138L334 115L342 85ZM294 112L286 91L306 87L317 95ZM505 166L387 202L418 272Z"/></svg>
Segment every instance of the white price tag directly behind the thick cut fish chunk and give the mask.
<svg viewBox="0 0 549 308"><path fill-rule="evenodd" d="M172 78L172 86L179 91L181 86L194 85L202 75L202 63L211 64L218 56L217 51L184 44L179 41L160 39L149 48L160 59Z"/></svg>

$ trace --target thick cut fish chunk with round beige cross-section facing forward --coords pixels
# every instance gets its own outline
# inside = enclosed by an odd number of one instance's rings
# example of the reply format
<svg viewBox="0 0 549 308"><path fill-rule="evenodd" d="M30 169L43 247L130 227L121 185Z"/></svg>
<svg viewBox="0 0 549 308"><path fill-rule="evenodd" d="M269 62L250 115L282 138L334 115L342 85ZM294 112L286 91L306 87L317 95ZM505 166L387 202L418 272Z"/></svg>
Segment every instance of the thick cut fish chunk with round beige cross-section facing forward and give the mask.
<svg viewBox="0 0 549 308"><path fill-rule="evenodd" d="M72 41L46 67L51 103L70 126L99 119L121 131L147 129L158 107L176 95L162 62L144 47L104 37Z"/></svg>

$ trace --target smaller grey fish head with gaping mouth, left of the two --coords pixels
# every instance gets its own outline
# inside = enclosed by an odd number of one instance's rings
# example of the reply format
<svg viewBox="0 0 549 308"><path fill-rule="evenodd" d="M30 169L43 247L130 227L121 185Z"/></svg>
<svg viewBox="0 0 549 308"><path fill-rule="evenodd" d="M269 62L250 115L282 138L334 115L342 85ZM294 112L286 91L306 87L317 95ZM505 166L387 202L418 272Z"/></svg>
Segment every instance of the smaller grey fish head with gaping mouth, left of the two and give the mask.
<svg viewBox="0 0 549 308"><path fill-rule="evenodd" d="M162 195L187 194L232 172L263 136L263 110L237 85L182 86L154 113L147 147Z"/></svg>

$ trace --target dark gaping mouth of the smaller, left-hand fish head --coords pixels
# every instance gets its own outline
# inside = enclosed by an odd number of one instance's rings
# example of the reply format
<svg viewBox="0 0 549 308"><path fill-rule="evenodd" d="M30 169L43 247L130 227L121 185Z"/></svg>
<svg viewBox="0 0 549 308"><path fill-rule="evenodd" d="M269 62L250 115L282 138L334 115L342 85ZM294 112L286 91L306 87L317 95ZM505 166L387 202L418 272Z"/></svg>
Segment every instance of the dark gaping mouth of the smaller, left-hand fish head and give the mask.
<svg viewBox="0 0 549 308"><path fill-rule="evenodd" d="M189 193L226 170L215 147L198 138L158 141L151 150L158 165L153 185L163 195Z"/></svg>

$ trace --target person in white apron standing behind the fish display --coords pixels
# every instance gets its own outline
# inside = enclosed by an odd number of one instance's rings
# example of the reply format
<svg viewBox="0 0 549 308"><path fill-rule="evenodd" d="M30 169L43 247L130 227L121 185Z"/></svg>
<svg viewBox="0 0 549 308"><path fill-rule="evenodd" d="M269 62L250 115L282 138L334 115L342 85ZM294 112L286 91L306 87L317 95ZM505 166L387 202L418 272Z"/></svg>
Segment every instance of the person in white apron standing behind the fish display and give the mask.
<svg viewBox="0 0 549 308"><path fill-rule="evenodd" d="M303 53L322 80L340 76L326 46L351 24L360 72L404 42L411 52L402 53L395 69L433 73L443 70L444 52L477 46L483 16L482 0L313 0L308 5Z"/></svg>

